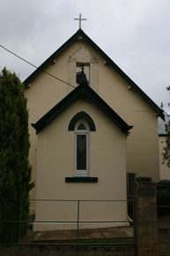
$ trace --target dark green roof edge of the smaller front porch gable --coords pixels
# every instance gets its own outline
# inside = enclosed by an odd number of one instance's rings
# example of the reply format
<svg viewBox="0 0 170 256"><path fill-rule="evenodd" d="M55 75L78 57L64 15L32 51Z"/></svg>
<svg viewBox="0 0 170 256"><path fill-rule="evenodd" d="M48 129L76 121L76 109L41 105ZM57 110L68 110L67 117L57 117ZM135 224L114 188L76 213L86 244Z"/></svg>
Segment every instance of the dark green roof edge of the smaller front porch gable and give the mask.
<svg viewBox="0 0 170 256"><path fill-rule="evenodd" d="M41 130L48 126L48 124L55 120L55 118L61 114L67 107L75 102L78 98L88 99L94 105L97 105L102 112L104 112L107 117L112 120L115 125L122 130L123 133L128 135L129 126L122 118L109 106L107 103L85 83L78 85L76 89L73 89L70 94L64 97L57 105L55 105L50 111L48 111L40 120L32 124L33 128L36 129L38 134Z"/></svg>

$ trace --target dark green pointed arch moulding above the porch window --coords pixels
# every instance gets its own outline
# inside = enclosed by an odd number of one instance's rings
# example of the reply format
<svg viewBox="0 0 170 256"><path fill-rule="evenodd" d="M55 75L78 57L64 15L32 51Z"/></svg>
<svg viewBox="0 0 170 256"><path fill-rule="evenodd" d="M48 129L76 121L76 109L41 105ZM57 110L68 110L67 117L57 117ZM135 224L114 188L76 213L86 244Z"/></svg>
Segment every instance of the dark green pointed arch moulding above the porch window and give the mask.
<svg viewBox="0 0 170 256"><path fill-rule="evenodd" d="M69 131L75 130L75 126L78 120L85 120L89 125L90 131L96 131L96 127L95 127L94 121L92 120L92 117L84 111L78 112L73 116L73 118L70 120L70 124L68 128Z"/></svg>

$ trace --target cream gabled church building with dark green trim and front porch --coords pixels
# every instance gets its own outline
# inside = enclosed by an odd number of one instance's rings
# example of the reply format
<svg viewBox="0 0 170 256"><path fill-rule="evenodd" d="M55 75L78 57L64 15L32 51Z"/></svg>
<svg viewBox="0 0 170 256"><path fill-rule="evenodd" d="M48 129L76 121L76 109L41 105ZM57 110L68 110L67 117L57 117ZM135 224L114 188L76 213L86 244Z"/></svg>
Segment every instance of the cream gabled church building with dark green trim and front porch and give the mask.
<svg viewBox="0 0 170 256"><path fill-rule="evenodd" d="M77 204L82 228L126 223L135 178L159 181L162 110L81 28L24 85L34 230L75 229Z"/></svg>

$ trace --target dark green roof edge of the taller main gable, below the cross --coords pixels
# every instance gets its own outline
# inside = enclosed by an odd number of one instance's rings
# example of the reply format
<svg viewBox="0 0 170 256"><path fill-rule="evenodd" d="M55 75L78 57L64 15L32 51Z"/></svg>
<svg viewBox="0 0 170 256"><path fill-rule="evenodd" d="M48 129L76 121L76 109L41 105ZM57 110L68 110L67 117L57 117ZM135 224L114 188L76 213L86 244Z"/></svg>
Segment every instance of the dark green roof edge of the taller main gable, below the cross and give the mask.
<svg viewBox="0 0 170 256"><path fill-rule="evenodd" d="M39 66L39 67L33 72L33 74L31 74L30 76L28 76L28 77L26 78L26 80L23 82L24 85L25 85L25 88L27 88L27 87L29 86L29 84L31 83L31 81L33 81L33 79L34 79L35 77L37 77L39 74L41 74L41 72L45 71L46 67L47 67L49 64L51 64L51 63L54 61L54 59L57 58L57 56L59 56L60 54L62 54L63 51L66 50L66 49L70 46L71 43L75 43L75 42L78 42L78 41L89 43L89 44L92 46L92 48L93 48L94 50L96 50L96 52L105 60L107 66L111 66L111 67L115 70L115 72L116 72L117 74L119 74L119 75L122 77L122 79L123 79L124 81L127 82L127 84L130 86L130 88L133 89L140 97L142 97L142 98L144 99L144 101L145 101L148 105L150 105L150 107L152 108L152 110L153 110L154 112L156 112L156 113L159 115L159 117L160 117L161 119L163 119L163 120L165 119L164 113L163 113L163 111L159 108L159 106L156 105L156 104L152 101L152 99L151 99L150 97L148 97L148 96L144 93L144 91L143 91L142 89L140 89L140 88L137 86L137 84L136 84L134 81L132 81L132 80L129 78L129 76L128 76L127 74L125 74L125 73L122 71L122 69L121 69L119 66L117 66L117 65L115 64L115 62L114 62L111 58L109 58L109 57L107 56L107 54L106 54L103 50L101 50L100 47L99 47L96 43L94 43L94 42L92 41L92 39L91 39L88 35L85 34L85 32L84 32L82 29L78 29L78 31L77 31L74 35L72 35L68 41L66 41L65 43L63 43L63 45L62 45L58 50L56 50L45 62L43 62L43 63L41 64L41 66Z"/></svg>

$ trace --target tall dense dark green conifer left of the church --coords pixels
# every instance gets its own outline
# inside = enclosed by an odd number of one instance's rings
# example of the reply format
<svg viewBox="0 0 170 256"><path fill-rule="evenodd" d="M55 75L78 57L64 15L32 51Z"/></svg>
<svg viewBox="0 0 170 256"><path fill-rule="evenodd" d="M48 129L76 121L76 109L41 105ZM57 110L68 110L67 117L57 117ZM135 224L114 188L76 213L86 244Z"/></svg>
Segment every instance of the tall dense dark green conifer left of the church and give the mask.
<svg viewBox="0 0 170 256"><path fill-rule="evenodd" d="M24 237L32 189L28 162L28 112L18 76L0 74L0 243Z"/></svg>

